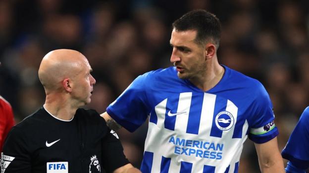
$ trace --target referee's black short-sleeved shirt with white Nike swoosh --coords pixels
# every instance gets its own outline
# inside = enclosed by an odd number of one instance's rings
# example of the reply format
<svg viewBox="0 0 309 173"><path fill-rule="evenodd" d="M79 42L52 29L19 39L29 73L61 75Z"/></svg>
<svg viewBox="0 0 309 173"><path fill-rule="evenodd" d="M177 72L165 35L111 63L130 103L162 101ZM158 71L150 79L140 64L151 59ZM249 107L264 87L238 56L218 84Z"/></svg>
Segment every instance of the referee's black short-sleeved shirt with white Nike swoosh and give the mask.
<svg viewBox="0 0 309 173"><path fill-rule="evenodd" d="M46 173L48 162L68 162L68 173L110 173L129 163L99 113L82 108L67 122L40 108L12 128L3 155L15 157L5 173Z"/></svg>

